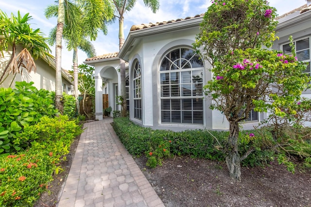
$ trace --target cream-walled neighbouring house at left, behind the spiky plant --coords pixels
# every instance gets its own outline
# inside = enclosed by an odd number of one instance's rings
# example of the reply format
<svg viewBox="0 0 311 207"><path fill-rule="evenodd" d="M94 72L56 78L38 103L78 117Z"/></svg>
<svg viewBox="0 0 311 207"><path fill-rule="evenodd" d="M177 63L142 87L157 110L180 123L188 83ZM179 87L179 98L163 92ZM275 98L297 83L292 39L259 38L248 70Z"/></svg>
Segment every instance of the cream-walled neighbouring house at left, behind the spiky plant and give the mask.
<svg viewBox="0 0 311 207"><path fill-rule="evenodd" d="M18 50L18 49L17 49ZM3 57L0 57L0 72L2 74L5 66L7 65L11 52L4 52ZM55 75L56 75L56 66L55 61L49 61L47 59L37 59L35 60L36 72L32 71L28 73L26 70L23 70L22 73L17 73L16 76L11 73L5 81L0 85L0 87L15 87L15 82L26 81L34 82L34 85L37 89L46 89L50 91L55 91ZM62 69L62 83L63 91L69 95L74 93L73 82L69 74Z"/></svg>

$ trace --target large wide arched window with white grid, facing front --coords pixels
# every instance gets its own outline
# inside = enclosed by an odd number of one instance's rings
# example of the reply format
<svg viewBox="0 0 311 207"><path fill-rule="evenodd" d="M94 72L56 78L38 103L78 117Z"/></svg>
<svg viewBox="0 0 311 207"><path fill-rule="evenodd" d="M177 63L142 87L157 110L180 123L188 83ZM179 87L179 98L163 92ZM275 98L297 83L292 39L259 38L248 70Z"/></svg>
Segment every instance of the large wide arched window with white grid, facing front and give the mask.
<svg viewBox="0 0 311 207"><path fill-rule="evenodd" d="M161 122L203 124L203 71L189 48L168 52L160 65Z"/></svg>

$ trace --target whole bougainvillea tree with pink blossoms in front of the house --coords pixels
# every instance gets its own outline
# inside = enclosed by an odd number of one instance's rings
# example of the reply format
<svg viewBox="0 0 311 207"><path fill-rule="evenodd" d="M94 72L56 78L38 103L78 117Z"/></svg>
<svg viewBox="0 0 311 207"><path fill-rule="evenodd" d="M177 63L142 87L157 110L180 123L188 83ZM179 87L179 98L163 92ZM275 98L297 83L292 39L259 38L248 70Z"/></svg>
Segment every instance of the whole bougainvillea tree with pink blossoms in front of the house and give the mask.
<svg viewBox="0 0 311 207"><path fill-rule="evenodd" d="M210 107L229 122L226 164L230 177L239 181L240 163L253 151L239 154L239 123L252 109L284 116L281 108L296 104L309 81L306 66L294 55L262 48L271 47L276 38L275 17L276 9L266 0L214 0L194 44L212 66L205 90Z"/></svg>

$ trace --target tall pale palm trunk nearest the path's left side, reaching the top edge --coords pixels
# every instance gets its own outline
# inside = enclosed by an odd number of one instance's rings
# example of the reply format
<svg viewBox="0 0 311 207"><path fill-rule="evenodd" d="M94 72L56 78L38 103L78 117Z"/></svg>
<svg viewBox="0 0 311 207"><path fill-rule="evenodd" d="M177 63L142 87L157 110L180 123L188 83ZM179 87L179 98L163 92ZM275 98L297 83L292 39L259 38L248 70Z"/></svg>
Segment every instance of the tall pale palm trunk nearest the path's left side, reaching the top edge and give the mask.
<svg viewBox="0 0 311 207"><path fill-rule="evenodd" d="M55 46L55 62L56 62L56 79L55 79L55 108L63 114L63 91L62 91L62 37L65 22L64 0L59 0L57 29L56 29L56 46Z"/></svg>

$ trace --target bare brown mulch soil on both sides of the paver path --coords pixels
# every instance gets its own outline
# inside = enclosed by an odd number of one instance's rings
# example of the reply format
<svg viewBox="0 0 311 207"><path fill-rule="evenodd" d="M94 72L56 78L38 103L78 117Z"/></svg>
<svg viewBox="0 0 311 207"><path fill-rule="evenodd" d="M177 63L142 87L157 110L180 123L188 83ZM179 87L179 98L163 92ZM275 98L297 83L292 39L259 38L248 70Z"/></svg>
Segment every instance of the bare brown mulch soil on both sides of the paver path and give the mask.
<svg viewBox="0 0 311 207"><path fill-rule="evenodd" d="M35 207L56 206L79 138L62 163L64 171L54 175ZM311 171L292 174L277 163L265 168L243 167L242 182L234 182L225 163L175 157L150 169L146 160L145 156L135 158L166 207L311 207Z"/></svg>

